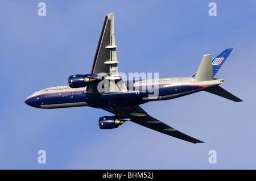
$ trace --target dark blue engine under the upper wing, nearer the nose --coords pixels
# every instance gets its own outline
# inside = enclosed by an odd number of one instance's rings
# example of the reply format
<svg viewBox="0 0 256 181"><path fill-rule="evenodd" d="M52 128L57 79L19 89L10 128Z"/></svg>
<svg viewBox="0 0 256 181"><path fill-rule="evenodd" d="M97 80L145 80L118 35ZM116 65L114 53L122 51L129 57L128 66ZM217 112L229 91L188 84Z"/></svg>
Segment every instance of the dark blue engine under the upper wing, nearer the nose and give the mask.
<svg viewBox="0 0 256 181"><path fill-rule="evenodd" d="M90 77L90 74L85 75L71 75L68 78L68 85L71 88L79 88L88 86L90 82L96 80L97 77Z"/></svg>

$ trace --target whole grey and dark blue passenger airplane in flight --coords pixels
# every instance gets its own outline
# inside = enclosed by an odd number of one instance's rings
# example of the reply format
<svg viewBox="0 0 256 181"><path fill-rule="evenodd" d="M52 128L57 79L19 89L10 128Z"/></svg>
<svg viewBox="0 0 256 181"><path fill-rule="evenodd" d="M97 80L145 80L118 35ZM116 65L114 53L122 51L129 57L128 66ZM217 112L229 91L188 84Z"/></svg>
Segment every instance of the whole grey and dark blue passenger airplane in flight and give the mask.
<svg viewBox="0 0 256 181"><path fill-rule="evenodd" d="M90 74L71 75L68 78L68 86L36 91L24 102L29 106L44 109L79 106L101 108L113 113L112 116L98 119L101 129L118 128L126 121L132 121L154 131L197 144L203 141L151 117L139 105L179 98L199 91L207 91L234 102L242 101L219 86L224 83L224 79L214 78L232 48L225 49L213 59L211 54L205 54L196 73L191 77L123 81L121 73L118 73L116 47L113 12L105 16ZM156 95L152 94L152 89L157 92Z"/></svg>

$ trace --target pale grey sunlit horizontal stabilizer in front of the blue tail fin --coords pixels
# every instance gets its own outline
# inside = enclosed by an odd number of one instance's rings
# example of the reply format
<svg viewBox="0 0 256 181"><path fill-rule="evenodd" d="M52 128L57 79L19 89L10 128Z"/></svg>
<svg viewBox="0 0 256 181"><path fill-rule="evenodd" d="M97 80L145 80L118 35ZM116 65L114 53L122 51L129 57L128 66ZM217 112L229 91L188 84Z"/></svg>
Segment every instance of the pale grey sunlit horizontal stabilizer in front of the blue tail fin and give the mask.
<svg viewBox="0 0 256 181"><path fill-rule="evenodd" d="M205 54L196 72L195 82L201 81L212 81L213 70L212 70L212 55Z"/></svg>

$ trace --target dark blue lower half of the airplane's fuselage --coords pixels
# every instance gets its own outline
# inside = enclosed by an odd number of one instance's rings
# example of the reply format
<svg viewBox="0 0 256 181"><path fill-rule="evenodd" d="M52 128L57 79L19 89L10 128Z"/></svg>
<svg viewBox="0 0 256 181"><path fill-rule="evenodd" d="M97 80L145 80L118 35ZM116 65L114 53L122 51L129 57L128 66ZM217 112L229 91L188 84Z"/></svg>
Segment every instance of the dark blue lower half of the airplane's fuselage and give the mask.
<svg viewBox="0 0 256 181"><path fill-rule="evenodd" d="M105 94L89 94L85 91L52 92L28 98L25 100L25 103L38 108L52 104L58 105L81 102L85 102L86 106L95 108L121 107L146 103L148 100L143 100L143 98L149 96L167 96L201 88L201 86L191 85L162 85L155 90L153 86L150 92L148 89L144 89L143 86L133 87L133 91L130 91L129 87L127 87L129 92L110 92Z"/></svg>

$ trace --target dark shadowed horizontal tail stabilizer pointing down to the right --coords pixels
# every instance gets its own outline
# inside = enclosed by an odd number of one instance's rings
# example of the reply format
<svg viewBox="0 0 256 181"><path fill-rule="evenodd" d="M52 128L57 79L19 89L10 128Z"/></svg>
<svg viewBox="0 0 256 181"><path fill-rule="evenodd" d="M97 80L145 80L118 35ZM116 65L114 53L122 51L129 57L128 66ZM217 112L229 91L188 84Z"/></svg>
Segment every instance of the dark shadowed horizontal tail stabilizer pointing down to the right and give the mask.
<svg viewBox="0 0 256 181"><path fill-rule="evenodd" d="M209 88L205 91L210 92L210 93L215 94L215 95L218 95L218 96L221 96L222 98L233 100L234 102L241 102L242 101L241 99L237 98L237 96L234 96L233 94L231 94L230 92L221 88L220 86L214 86L214 87L211 87L211 88Z"/></svg>

